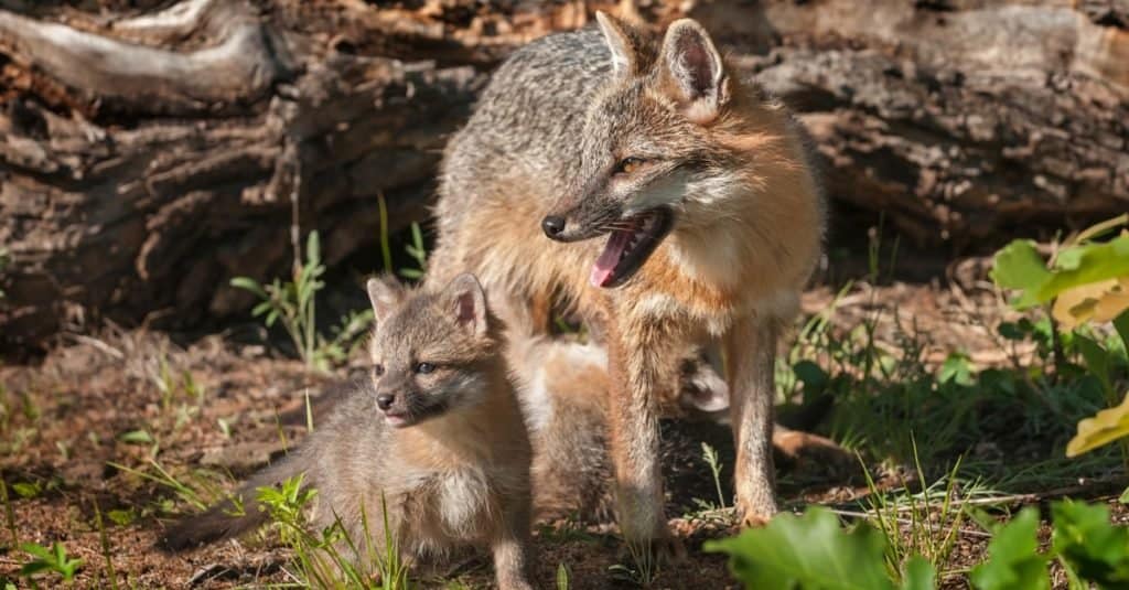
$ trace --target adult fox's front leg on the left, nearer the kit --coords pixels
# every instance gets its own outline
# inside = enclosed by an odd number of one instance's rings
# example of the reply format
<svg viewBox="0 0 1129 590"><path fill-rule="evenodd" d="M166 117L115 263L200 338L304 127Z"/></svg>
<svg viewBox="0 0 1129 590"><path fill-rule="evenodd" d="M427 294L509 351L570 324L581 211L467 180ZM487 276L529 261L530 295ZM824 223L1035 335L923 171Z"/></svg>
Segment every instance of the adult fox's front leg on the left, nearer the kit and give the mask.
<svg viewBox="0 0 1129 590"><path fill-rule="evenodd" d="M609 322L609 439L620 529L633 550L680 557L669 536L659 466L660 388L672 387L671 335L658 326Z"/></svg>

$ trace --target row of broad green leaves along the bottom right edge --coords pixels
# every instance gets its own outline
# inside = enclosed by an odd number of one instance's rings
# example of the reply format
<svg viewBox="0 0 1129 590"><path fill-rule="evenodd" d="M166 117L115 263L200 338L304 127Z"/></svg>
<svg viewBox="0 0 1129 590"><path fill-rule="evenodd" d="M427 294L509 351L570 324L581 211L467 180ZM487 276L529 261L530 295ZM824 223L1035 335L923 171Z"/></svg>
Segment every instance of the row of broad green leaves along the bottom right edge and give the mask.
<svg viewBox="0 0 1129 590"><path fill-rule="evenodd" d="M1052 543L1041 552L1039 511L1026 507L997 526L988 559L970 574L978 590L1049 589L1048 565L1058 561L1070 588L1129 588L1129 528L1110 523L1103 504L1074 501L1051 505ZM935 588L933 565L920 556L900 572L884 566L886 537L866 522L844 529L822 507L777 517L763 529L708 541L707 552L729 556L729 570L747 589L924 590ZM900 581L899 581L900 579Z"/></svg>

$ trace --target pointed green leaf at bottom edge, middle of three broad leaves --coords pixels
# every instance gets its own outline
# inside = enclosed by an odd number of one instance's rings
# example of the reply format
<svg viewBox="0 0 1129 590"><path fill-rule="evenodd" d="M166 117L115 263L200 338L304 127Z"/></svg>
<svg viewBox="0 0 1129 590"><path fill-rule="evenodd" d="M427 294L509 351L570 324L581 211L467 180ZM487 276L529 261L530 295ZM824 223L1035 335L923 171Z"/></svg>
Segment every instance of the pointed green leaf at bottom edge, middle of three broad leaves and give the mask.
<svg viewBox="0 0 1129 590"><path fill-rule="evenodd" d="M1039 553L1039 511L1023 509L988 544L988 561L972 569L979 590L1050 590L1047 556Z"/></svg>

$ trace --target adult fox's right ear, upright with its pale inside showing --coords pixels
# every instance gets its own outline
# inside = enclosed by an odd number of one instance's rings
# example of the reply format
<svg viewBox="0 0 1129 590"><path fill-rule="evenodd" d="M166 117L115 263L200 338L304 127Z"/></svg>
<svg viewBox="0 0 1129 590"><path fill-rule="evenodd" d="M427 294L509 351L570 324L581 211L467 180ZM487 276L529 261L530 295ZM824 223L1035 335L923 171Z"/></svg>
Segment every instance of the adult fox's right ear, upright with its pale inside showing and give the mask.
<svg viewBox="0 0 1129 590"><path fill-rule="evenodd" d="M666 29L659 59L665 92L699 124L717 119L729 99L729 80L721 55L697 21L683 18Z"/></svg>

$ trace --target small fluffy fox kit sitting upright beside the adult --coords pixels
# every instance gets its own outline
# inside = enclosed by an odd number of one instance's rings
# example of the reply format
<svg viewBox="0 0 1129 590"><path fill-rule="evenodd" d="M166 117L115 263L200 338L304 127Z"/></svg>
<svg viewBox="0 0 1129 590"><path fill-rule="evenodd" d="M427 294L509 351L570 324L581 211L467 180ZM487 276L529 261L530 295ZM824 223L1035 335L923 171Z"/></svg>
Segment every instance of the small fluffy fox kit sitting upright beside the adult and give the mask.
<svg viewBox="0 0 1129 590"><path fill-rule="evenodd" d="M173 528L164 547L256 528L266 514L255 489L305 474L318 491L312 518L318 529L340 519L367 548L385 538L385 507L406 557L489 544L499 587L531 588L531 445L482 287L464 274L441 290L414 294L370 279L368 293L377 321L368 387L341 400L297 452L239 489L245 515L230 517L233 503L221 503Z"/></svg>

